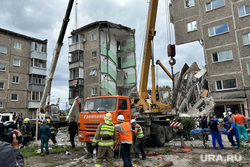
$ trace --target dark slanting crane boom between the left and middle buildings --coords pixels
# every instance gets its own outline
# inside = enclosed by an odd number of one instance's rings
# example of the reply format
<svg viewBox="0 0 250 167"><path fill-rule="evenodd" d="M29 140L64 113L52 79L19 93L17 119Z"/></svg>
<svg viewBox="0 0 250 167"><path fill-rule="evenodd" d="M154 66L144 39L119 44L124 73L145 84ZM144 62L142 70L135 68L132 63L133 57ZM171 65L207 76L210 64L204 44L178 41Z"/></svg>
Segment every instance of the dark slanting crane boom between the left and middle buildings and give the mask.
<svg viewBox="0 0 250 167"><path fill-rule="evenodd" d="M68 7L67 7L67 10L66 10L66 13L65 13L65 17L63 19L63 23L62 23L62 26L61 26L61 31L60 31L60 34L59 34L59 37L58 37L58 40L57 40L56 47L54 49L53 59L52 59L51 64L50 64L50 70L49 70L49 74L48 74L48 77L47 77L47 80L46 80L46 85L45 85L45 88L44 88L44 91L43 91L42 100L40 102L40 109L39 109L40 112L45 111L46 99L47 99L48 93L49 93L49 91L51 89L51 82L52 82L52 80L54 78L56 64L57 64L57 61L58 61L58 58L59 58L61 47L63 45L63 38L65 36L65 32L66 32L66 29L67 29L67 26L68 26L69 17L70 17L70 13L71 13L71 10L72 10L72 7L73 7L73 3L74 3L74 0L69 0Z"/></svg>

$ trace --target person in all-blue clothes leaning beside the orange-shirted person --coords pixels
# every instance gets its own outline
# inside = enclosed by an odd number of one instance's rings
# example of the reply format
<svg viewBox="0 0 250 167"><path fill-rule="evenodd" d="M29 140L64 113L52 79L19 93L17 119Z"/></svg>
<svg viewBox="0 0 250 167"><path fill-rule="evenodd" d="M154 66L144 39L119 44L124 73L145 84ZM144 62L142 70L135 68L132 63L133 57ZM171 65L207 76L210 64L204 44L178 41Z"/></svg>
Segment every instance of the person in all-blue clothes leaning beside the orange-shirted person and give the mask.
<svg viewBox="0 0 250 167"><path fill-rule="evenodd" d="M233 140L233 136L235 136L236 142L237 142L237 149L240 148L238 129L237 129L235 123L233 122L232 118L228 118L228 121L226 122L226 128L227 128L227 132L228 132L228 139L232 143L232 146L236 146L236 144Z"/></svg>

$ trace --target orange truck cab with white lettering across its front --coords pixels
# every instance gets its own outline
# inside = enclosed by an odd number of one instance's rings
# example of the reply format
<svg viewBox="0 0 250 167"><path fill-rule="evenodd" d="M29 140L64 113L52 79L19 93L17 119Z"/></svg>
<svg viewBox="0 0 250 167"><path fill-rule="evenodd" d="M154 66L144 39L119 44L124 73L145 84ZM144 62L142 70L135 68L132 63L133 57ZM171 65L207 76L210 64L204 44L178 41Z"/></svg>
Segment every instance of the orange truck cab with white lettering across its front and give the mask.
<svg viewBox="0 0 250 167"><path fill-rule="evenodd" d="M127 96L96 96L86 98L83 110L79 113L78 129L79 141L86 142L87 146L93 141L93 137L100 123L103 122L106 113L112 114L112 122L118 124L118 115L123 115L125 122L131 120L130 100Z"/></svg>

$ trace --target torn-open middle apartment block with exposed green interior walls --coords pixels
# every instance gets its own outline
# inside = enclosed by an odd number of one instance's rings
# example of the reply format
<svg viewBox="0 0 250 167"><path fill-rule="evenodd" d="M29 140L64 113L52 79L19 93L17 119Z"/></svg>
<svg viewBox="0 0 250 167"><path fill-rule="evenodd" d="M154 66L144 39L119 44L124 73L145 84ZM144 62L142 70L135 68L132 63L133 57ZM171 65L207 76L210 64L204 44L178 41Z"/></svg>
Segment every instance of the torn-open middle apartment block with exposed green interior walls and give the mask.
<svg viewBox="0 0 250 167"><path fill-rule="evenodd" d="M97 21L69 37L69 104L98 95L136 91L135 30Z"/></svg>

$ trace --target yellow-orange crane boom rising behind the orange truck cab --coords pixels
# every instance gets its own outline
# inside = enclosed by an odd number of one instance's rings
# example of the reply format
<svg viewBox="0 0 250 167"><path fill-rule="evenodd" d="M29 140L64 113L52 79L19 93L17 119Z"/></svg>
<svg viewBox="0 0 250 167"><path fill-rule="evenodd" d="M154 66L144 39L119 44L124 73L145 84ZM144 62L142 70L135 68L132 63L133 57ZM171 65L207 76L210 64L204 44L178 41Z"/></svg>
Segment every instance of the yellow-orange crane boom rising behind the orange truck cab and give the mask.
<svg viewBox="0 0 250 167"><path fill-rule="evenodd" d="M158 0L151 0L148 8L148 19L147 19L147 31L144 44L143 52L143 62L141 67L141 77L140 77L140 87L139 87L139 97L143 99L148 98L147 85L148 85L148 75L150 59L152 58L152 40L156 35L155 32L155 22L157 15ZM151 68L152 69L152 68ZM152 71L152 76L154 71ZM152 79L155 77L152 77ZM155 89L155 85L152 84L152 89ZM153 90L152 90L153 92ZM155 91L154 91L155 92Z"/></svg>

